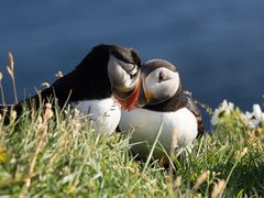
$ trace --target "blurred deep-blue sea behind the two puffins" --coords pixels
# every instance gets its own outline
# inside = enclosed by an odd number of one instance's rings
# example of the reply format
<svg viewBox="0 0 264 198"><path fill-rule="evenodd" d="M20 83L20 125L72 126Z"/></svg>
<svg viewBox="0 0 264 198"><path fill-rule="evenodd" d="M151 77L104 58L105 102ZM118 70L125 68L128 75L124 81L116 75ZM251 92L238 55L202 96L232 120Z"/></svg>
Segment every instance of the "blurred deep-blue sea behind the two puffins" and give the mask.
<svg viewBox="0 0 264 198"><path fill-rule="evenodd" d="M216 108L263 103L264 1L0 1L0 70L6 100L13 89L6 66L14 55L19 99L54 74L70 72L92 46L120 44L142 61L177 65L184 87ZM263 107L263 106L262 106Z"/></svg>

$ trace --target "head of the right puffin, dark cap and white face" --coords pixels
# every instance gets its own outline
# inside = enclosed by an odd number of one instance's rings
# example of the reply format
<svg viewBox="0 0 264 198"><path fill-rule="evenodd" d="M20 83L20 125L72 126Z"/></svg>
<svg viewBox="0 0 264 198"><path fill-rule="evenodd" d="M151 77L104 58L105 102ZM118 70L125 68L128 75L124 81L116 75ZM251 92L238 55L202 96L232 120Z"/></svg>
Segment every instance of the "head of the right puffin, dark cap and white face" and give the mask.
<svg viewBox="0 0 264 198"><path fill-rule="evenodd" d="M141 67L141 90L138 106L157 105L182 91L176 66L164 59L151 59Z"/></svg>

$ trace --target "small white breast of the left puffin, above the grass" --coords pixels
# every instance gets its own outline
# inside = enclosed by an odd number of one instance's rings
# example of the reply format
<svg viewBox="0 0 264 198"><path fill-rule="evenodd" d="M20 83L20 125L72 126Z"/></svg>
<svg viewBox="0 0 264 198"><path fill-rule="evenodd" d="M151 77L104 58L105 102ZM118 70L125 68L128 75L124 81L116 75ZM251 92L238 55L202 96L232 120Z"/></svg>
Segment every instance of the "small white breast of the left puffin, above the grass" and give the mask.
<svg viewBox="0 0 264 198"><path fill-rule="evenodd" d="M70 106L78 109L81 114L88 116L96 133L111 134L119 124L121 108L113 97L102 100L72 102Z"/></svg>

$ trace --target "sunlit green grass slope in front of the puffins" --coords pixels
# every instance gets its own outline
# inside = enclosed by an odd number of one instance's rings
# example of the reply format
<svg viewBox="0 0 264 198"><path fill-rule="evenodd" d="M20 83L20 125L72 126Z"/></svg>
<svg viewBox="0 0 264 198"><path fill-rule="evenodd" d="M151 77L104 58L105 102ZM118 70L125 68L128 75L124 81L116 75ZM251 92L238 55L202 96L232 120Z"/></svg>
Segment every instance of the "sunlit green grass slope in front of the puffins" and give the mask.
<svg viewBox="0 0 264 198"><path fill-rule="evenodd" d="M69 114L41 117L26 111L0 125L0 195L210 197L222 180L218 196L264 196L264 127L249 130L239 110L196 141L189 155L173 160L173 177L157 162L134 161L120 133L96 136Z"/></svg>

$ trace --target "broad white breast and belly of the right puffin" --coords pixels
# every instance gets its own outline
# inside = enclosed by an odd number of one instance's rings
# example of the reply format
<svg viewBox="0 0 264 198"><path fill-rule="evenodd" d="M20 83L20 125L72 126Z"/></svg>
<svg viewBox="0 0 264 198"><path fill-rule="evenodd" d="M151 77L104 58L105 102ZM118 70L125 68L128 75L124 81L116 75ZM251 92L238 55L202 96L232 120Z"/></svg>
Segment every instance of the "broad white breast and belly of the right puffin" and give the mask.
<svg viewBox="0 0 264 198"><path fill-rule="evenodd" d="M132 131L131 143L145 141L152 145L162 121L163 129L158 142L167 153L170 152L173 136L175 139L174 148L180 151L189 146L198 134L197 120L187 108L175 112L157 112L145 109L134 109L130 112L122 111L119 128L124 133ZM140 156L148 154L148 150L142 143L132 146L132 151Z"/></svg>

